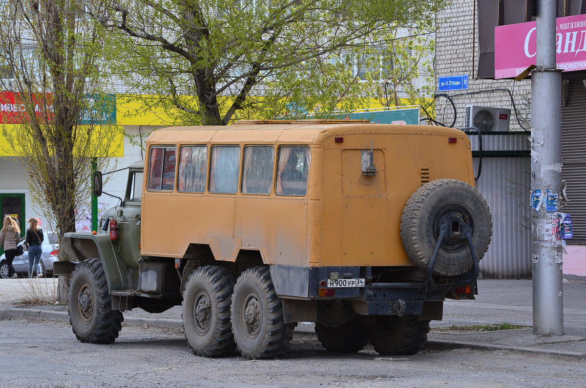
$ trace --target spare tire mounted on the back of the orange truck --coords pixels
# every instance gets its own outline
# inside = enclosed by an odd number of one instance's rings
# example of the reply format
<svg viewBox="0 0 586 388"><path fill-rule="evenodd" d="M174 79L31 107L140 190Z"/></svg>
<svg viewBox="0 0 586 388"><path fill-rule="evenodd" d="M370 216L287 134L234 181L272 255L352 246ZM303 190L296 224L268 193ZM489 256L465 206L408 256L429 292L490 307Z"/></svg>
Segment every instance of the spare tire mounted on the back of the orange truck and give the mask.
<svg viewBox="0 0 586 388"><path fill-rule="evenodd" d="M448 222L450 229L440 246L433 273L455 276L472 267L464 234L451 233L457 228L454 219L470 226L476 258L482 259L492 237L492 216L478 190L455 179L434 180L415 190L401 216L401 240L415 265L427 270L441 225Z"/></svg>

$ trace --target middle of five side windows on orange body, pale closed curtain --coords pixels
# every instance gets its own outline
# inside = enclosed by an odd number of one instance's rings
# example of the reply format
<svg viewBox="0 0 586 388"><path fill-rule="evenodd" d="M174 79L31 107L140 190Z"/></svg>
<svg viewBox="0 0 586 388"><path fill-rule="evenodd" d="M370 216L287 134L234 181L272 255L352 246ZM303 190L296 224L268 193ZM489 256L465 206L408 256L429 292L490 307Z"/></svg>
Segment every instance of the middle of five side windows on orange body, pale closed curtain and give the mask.
<svg viewBox="0 0 586 388"><path fill-rule="evenodd" d="M210 193L236 194L240 172L240 146L213 146Z"/></svg>

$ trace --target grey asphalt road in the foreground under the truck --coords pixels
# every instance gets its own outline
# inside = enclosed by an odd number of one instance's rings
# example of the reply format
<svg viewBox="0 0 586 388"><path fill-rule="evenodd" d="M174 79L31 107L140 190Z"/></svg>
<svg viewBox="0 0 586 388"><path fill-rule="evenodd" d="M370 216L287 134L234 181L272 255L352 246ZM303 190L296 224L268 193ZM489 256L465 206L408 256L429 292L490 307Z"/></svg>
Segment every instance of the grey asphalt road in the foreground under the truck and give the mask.
<svg viewBox="0 0 586 388"><path fill-rule="evenodd" d="M65 322L0 322L2 387L580 387L584 361L508 351L330 353L296 332L284 359L200 358L182 332L125 325L111 345L81 344Z"/></svg>

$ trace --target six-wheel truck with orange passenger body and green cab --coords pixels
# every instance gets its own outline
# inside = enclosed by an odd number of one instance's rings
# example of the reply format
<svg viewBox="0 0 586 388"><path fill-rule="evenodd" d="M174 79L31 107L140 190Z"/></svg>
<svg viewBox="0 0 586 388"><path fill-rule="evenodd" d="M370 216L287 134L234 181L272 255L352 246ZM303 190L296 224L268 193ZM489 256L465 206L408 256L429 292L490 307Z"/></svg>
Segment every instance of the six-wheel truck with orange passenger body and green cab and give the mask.
<svg viewBox="0 0 586 388"><path fill-rule="evenodd" d="M100 233L64 236L55 272L71 274L81 342L113 342L124 311L182 305L200 356L282 356L296 322L315 322L330 351L412 354L445 298L476 294L492 218L462 131L173 127L149 136L147 156Z"/></svg>

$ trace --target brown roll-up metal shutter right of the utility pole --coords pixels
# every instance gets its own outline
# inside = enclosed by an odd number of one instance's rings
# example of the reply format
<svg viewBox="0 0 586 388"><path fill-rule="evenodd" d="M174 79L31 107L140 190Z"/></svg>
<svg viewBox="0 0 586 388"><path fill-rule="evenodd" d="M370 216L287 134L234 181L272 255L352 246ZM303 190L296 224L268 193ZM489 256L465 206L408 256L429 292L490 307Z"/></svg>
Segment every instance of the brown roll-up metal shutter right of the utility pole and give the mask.
<svg viewBox="0 0 586 388"><path fill-rule="evenodd" d="M561 178L567 183L568 203L574 237L568 244L586 244L586 86L570 80L567 101L561 108Z"/></svg>

